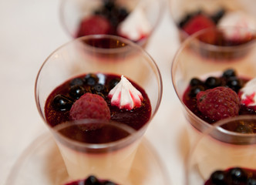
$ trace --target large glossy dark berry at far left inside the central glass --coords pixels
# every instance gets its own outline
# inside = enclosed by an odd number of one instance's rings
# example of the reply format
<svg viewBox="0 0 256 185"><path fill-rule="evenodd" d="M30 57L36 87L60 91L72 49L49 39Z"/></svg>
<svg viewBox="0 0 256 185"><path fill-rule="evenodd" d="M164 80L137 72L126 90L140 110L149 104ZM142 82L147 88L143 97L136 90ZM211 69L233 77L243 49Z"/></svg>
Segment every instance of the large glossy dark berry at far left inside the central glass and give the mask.
<svg viewBox="0 0 256 185"><path fill-rule="evenodd" d="M64 95L56 95L53 99L52 106L57 110L69 110L72 106L72 101Z"/></svg>

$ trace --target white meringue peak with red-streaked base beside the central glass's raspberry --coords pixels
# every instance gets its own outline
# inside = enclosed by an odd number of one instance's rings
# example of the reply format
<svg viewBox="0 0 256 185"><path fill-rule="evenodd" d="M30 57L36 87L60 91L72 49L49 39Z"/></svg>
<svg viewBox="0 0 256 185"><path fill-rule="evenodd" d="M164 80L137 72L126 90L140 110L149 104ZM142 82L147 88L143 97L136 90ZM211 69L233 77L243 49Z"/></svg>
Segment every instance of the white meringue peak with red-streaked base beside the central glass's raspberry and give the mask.
<svg viewBox="0 0 256 185"><path fill-rule="evenodd" d="M118 106L120 109L133 109L140 107L143 96L126 77L121 76L121 80L109 91L112 106Z"/></svg>

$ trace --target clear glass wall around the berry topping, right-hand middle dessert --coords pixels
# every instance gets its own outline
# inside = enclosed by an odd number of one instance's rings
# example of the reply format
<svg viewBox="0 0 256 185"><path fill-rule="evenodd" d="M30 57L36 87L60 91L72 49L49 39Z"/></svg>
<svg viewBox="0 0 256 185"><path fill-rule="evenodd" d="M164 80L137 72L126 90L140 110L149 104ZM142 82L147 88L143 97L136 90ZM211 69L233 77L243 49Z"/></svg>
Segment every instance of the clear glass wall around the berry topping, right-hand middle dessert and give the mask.
<svg viewBox="0 0 256 185"><path fill-rule="evenodd" d="M203 119L197 117L184 104L184 92L190 84L190 79L206 79L208 76L221 76L226 69L234 69L238 76L253 79L256 76L256 42L245 43L237 46L217 46L200 42L200 36L208 32L231 32L237 28L225 29L204 29L191 35L182 43L173 58L171 66L171 78L173 87L180 99L184 115L189 123L187 126L190 140L200 135L205 129L211 126ZM240 29L239 29L240 30ZM248 29L241 29L241 32ZM254 35L254 32L250 33Z"/></svg>

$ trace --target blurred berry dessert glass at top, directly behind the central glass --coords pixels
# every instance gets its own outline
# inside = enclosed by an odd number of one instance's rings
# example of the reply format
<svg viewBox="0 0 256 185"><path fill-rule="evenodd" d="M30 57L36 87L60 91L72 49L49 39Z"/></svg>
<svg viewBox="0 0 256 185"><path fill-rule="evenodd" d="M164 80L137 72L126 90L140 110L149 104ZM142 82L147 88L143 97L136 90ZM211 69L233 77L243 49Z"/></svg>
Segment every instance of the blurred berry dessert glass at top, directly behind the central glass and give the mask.
<svg viewBox="0 0 256 185"><path fill-rule="evenodd" d="M118 35L146 45L163 15L162 0L62 0L60 18L72 37Z"/></svg>

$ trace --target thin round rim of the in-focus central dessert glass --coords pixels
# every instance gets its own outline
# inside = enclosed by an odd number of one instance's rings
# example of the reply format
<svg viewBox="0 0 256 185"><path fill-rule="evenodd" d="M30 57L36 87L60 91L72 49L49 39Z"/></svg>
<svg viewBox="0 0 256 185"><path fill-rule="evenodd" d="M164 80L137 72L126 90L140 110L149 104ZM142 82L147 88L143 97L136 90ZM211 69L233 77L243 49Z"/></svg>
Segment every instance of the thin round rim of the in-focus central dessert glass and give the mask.
<svg viewBox="0 0 256 185"><path fill-rule="evenodd" d="M42 69L44 68L45 64L47 63L47 61L49 61L49 58L52 57L52 55L54 55L59 49L62 49L64 47L66 47L66 45L70 45L72 44L73 42L81 42L85 39L92 39L92 38L109 38L109 39L120 39L122 42L124 43L127 43L127 45L131 45L131 47L134 47L136 48L138 51L142 52L143 55L147 56L147 58L149 59L150 63L152 64L153 68L155 69L156 71L156 74L157 74L157 81L159 81L159 88L158 88L158 97L157 97L157 104L155 106L155 110L151 113L151 116L150 116L150 119L147 121L146 124L144 124L140 130L146 130L147 126L149 125L149 123L152 121L153 117L157 114L157 111L160 107L160 103L162 101L162 96L163 96L163 79L162 79L162 76L161 76L161 73L160 73L160 69L159 67L157 66L157 62L153 59L153 57L145 50L143 49L140 45L137 45L136 43L130 41L129 39L125 39L125 38L122 38L122 37L119 37L119 36L116 36L116 35L86 35L86 36L83 36L83 37L80 37L80 38L77 38L77 39L72 39L71 41L69 42L66 42L65 44L63 45L60 45L57 49L55 49L53 52L50 53L50 55L45 59L45 61L42 63L42 66L39 68L39 71L36 75L36 78L35 78L35 87L34 87L34 97L35 97L35 104L36 104L36 107L39 111L39 114L41 116L41 118L43 119L43 121L45 122L45 118L43 116L43 109L41 109L41 104L40 104L40 101L39 101L39 93L38 93L38 90L37 90L37 87L38 87L38 83L39 83L39 77L40 77L40 74L42 72ZM92 48L90 48L92 49ZM111 51L113 52L121 52L123 51L122 50L123 48L116 48L116 49L110 49ZM95 51L95 49L93 49ZM109 49L99 49L99 52L107 52ZM51 126L49 126L48 123L45 123L49 128L52 128ZM137 131L140 131L140 130L137 130Z"/></svg>

